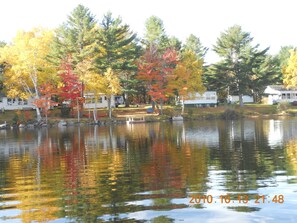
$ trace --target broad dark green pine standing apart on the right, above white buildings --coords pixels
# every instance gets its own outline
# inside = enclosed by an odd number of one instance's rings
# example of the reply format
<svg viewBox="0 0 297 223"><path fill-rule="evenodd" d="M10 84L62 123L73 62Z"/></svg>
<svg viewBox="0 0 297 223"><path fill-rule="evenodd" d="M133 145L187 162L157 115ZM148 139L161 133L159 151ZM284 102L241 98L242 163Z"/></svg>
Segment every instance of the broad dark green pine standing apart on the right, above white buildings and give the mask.
<svg viewBox="0 0 297 223"><path fill-rule="evenodd" d="M223 97L239 95L241 106L242 95L259 92L269 84L270 76L275 72L267 58L269 48L259 50L259 45L253 46L252 41L250 33L242 31L238 25L223 32L214 46L221 60L207 72L207 84Z"/></svg>

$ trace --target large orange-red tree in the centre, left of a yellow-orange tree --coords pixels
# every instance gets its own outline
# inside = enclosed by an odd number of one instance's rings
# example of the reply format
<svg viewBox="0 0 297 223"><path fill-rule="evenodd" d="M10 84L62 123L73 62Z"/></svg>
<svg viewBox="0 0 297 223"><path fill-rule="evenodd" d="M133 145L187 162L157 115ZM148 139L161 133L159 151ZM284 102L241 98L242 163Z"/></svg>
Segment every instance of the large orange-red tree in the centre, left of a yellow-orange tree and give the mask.
<svg viewBox="0 0 297 223"><path fill-rule="evenodd" d="M177 63L177 52L168 49L161 54L158 49L151 46L141 57L138 63L138 78L145 82L147 93L152 101L161 105L173 94L173 70Z"/></svg>

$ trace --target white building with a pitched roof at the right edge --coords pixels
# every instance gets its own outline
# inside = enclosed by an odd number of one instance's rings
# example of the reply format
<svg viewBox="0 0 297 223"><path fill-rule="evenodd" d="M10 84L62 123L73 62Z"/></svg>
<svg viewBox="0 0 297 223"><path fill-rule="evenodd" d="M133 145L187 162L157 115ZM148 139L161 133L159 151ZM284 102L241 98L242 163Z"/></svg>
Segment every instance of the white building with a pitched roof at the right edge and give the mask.
<svg viewBox="0 0 297 223"><path fill-rule="evenodd" d="M269 85L264 90L267 104L297 101L297 88L286 88L284 85Z"/></svg>

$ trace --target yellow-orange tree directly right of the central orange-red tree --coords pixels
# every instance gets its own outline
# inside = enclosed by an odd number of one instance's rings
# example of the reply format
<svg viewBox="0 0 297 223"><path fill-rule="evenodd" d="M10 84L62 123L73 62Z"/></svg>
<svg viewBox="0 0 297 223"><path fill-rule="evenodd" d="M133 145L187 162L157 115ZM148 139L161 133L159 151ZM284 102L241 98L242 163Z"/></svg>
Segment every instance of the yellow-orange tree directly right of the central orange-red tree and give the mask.
<svg viewBox="0 0 297 223"><path fill-rule="evenodd" d="M181 55L181 60L177 64L175 74L175 88L178 92L178 96L182 100L182 106L184 99L189 97L190 94L205 91L205 87L202 83L203 74L203 61L197 59L196 54L191 50L186 50ZM184 112L184 106L182 113Z"/></svg>

